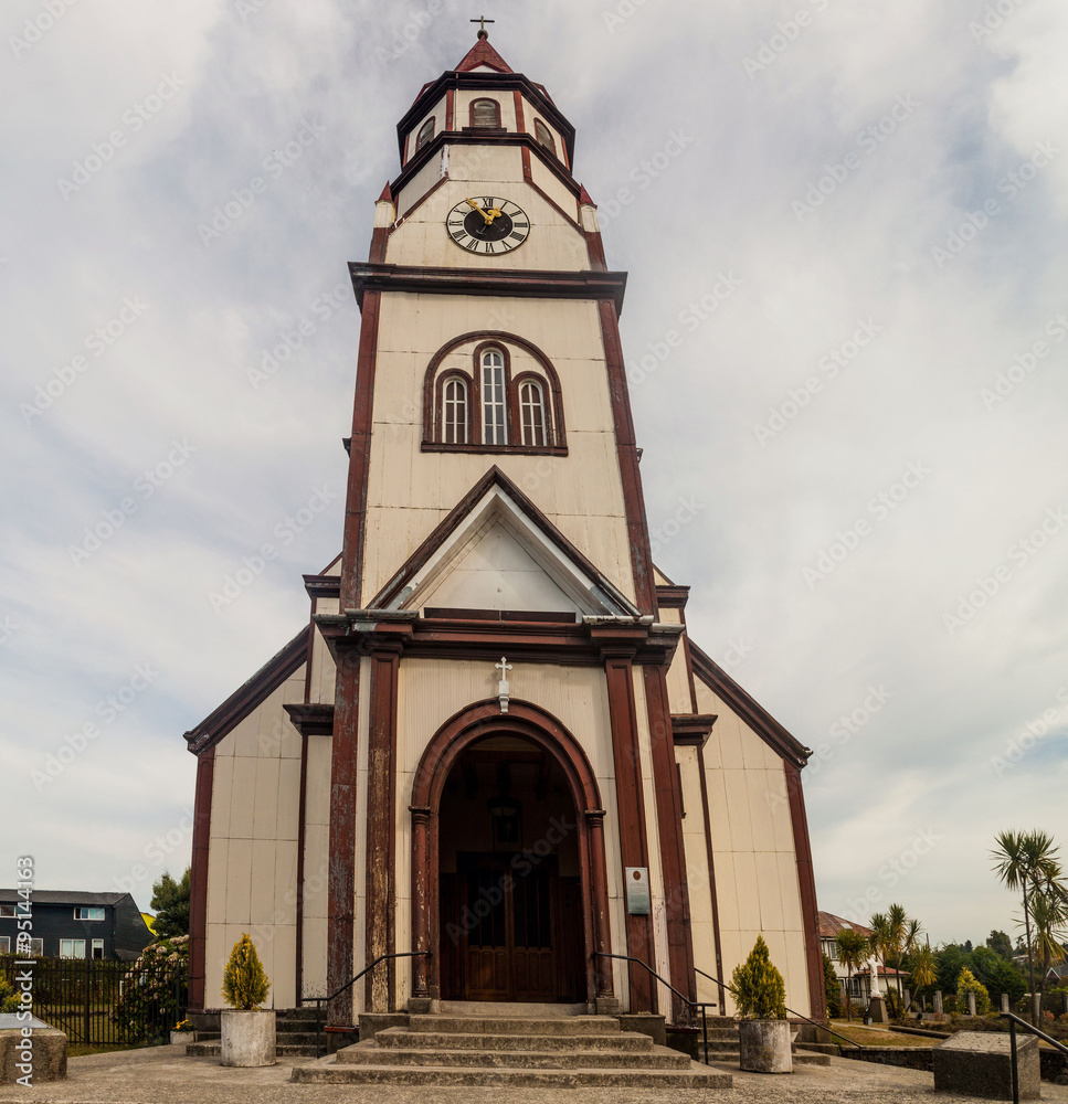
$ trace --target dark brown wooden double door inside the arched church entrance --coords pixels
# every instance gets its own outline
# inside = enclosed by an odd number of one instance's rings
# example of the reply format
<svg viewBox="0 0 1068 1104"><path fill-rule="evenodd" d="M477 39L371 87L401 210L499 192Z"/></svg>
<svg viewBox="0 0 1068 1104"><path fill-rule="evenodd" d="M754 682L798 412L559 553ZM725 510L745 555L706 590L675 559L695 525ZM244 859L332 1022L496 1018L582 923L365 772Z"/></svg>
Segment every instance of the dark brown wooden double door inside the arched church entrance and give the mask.
<svg viewBox="0 0 1068 1104"><path fill-rule="evenodd" d="M452 1000L585 999L581 887L554 856L537 867L462 853L441 887L442 996Z"/></svg>

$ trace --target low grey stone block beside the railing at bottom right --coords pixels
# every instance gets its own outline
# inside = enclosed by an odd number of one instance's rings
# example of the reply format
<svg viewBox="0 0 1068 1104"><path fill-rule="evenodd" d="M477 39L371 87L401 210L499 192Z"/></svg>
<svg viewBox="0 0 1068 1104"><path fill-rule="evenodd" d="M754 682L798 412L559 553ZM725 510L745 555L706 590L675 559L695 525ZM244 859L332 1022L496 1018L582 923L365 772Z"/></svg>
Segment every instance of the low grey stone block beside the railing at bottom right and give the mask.
<svg viewBox="0 0 1068 1104"><path fill-rule="evenodd" d="M1016 1036L1019 1098L1039 1100L1038 1040ZM1013 1098L1012 1049L1007 1033L960 1031L934 1048L934 1091L988 1101Z"/></svg>

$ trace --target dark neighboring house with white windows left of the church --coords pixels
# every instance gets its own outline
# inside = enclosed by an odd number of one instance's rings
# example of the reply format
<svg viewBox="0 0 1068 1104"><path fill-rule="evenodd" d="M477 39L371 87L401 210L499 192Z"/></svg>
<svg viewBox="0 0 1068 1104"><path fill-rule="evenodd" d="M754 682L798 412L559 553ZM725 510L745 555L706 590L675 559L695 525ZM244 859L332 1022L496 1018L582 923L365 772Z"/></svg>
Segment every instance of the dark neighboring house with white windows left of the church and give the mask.
<svg viewBox="0 0 1068 1104"><path fill-rule="evenodd" d="M0 954L14 954L19 893L0 890ZM133 962L152 942L129 893L34 890L30 953L44 958Z"/></svg>

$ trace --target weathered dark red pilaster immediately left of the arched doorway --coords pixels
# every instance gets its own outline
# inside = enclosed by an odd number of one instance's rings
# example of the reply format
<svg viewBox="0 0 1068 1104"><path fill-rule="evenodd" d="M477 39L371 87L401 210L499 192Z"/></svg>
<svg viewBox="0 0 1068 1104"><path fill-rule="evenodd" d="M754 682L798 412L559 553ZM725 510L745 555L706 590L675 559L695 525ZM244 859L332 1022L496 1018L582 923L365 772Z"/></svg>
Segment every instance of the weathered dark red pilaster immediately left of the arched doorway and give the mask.
<svg viewBox="0 0 1068 1104"><path fill-rule="evenodd" d="M371 713L367 761L367 903L364 960L395 952L396 882L396 682L400 649L371 655ZM396 1010L396 969L372 970L364 985L371 1012Z"/></svg>

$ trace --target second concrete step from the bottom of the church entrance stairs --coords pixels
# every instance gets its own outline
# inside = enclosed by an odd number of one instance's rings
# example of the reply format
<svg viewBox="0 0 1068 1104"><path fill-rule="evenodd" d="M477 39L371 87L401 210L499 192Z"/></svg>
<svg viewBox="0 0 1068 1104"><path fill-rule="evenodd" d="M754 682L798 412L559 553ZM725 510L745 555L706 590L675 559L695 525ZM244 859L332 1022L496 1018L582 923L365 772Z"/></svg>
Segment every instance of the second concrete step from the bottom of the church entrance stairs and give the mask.
<svg viewBox="0 0 1068 1104"><path fill-rule="evenodd" d="M688 1070L690 1060L666 1047L653 1053L531 1050L402 1050L357 1043L338 1051L340 1065L463 1066L511 1070Z"/></svg>

